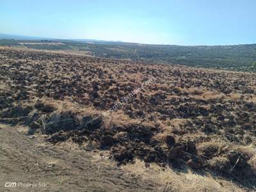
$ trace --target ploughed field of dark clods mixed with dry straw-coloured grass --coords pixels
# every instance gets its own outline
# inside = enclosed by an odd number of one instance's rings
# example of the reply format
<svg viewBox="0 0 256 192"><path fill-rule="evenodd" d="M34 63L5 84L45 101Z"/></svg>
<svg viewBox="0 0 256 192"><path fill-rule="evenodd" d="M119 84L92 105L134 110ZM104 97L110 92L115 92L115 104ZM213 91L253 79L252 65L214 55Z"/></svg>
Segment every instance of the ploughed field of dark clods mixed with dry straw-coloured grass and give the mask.
<svg viewBox="0 0 256 192"><path fill-rule="evenodd" d="M244 72L0 49L2 124L162 191L256 190L255 88Z"/></svg>

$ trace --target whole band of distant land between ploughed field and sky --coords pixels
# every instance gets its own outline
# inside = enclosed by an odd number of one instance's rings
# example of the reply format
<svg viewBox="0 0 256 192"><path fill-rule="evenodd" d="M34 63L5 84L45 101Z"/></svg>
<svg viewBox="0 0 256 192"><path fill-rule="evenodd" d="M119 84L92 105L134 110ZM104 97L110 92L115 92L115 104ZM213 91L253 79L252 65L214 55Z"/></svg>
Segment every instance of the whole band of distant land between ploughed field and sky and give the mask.
<svg viewBox="0 0 256 192"><path fill-rule="evenodd" d="M45 44L45 40L48 42L62 42L63 44ZM0 34L0 45L20 46L20 42L26 42L26 47L31 49L88 51L92 52L94 56L104 58L256 71L256 68L252 67L252 63L256 61L256 44L218 46L147 45L86 39L58 40ZM28 44L29 42L44 42L44 44Z"/></svg>

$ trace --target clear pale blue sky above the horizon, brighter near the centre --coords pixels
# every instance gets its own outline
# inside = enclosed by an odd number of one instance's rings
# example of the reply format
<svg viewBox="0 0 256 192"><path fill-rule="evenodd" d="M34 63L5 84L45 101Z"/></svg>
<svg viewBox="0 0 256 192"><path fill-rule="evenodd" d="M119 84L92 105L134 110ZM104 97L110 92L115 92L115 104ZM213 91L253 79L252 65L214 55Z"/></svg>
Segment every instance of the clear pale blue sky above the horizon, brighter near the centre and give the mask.
<svg viewBox="0 0 256 192"><path fill-rule="evenodd" d="M0 0L0 33L147 44L256 43L256 0Z"/></svg>

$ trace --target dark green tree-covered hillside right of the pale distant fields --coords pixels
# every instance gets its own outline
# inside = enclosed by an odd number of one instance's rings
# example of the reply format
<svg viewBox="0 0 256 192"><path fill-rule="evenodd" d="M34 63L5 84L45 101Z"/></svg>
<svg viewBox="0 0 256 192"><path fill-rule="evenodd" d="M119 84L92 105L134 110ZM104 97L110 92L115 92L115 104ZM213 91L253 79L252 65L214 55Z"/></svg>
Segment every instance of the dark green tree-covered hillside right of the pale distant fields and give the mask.
<svg viewBox="0 0 256 192"><path fill-rule="evenodd" d="M72 42L66 44L70 45ZM144 45L129 43L76 44L82 51L105 58L167 62L191 67L252 71L256 61L256 44L221 46Z"/></svg>

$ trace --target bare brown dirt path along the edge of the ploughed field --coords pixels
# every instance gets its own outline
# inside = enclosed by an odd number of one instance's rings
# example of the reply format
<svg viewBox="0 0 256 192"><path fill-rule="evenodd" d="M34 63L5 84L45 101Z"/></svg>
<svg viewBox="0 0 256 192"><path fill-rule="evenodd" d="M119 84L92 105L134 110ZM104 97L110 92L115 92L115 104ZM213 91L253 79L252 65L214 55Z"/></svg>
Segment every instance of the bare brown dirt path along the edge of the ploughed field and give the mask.
<svg viewBox="0 0 256 192"><path fill-rule="evenodd" d="M45 143L22 129L0 124L0 191L157 191L104 157ZM6 182L17 186L5 188Z"/></svg>

